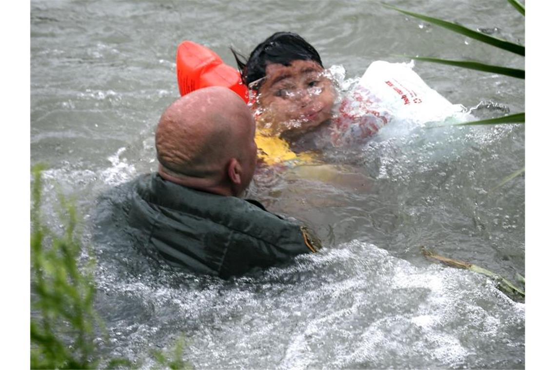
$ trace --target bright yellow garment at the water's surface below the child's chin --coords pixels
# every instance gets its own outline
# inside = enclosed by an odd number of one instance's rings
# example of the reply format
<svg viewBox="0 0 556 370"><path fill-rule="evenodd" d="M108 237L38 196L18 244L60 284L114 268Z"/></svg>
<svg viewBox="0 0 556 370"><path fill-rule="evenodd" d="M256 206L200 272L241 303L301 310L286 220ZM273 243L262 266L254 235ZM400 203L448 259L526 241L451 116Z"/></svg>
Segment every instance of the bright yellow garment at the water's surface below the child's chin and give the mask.
<svg viewBox="0 0 556 370"><path fill-rule="evenodd" d="M270 136L264 130L257 130L255 143L259 148L259 158L267 165L285 164L310 164L314 162L311 153L296 154L290 149L290 144L278 136Z"/></svg>

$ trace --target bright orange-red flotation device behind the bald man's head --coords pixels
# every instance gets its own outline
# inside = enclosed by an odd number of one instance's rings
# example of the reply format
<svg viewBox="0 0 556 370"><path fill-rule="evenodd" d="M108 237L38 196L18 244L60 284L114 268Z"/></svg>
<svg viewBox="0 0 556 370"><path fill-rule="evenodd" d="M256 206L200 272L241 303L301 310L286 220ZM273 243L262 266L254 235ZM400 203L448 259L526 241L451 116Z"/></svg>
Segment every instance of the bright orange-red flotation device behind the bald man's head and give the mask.
<svg viewBox="0 0 556 370"><path fill-rule="evenodd" d="M222 62L211 49L192 41L184 41L176 53L177 84L183 96L209 86L223 86L249 102L249 92L241 82L237 69Z"/></svg>

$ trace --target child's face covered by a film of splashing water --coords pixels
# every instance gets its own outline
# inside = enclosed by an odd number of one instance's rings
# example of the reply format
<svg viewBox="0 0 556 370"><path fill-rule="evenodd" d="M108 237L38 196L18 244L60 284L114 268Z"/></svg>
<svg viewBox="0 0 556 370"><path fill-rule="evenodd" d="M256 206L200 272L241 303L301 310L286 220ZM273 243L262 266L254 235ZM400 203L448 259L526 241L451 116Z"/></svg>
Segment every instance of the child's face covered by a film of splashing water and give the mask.
<svg viewBox="0 0 556 370"><path fill-rule="evenodd" d="M312 60L270 63L259 88L257 123L295 139L331 118L335 95L324 69Z"/></svg>

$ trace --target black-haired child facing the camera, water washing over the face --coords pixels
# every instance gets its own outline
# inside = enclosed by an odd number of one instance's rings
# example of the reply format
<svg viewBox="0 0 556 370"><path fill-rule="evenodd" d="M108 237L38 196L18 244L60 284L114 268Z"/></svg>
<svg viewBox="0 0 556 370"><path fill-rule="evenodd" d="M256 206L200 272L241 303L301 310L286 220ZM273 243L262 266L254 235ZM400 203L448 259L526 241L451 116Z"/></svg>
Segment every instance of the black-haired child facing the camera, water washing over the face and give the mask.
<svg viewBox="0 0 556 370"><path fill-rule="evenodd" d="M256 95L257 145L263 151L280 146L268 139L276 136L298 153L354 144L388 123L388 112L375 106L368 89L358 86L349 99L340 99L319 53L298 34L272 34L247 60L232 52L244 84Z"/></svg>

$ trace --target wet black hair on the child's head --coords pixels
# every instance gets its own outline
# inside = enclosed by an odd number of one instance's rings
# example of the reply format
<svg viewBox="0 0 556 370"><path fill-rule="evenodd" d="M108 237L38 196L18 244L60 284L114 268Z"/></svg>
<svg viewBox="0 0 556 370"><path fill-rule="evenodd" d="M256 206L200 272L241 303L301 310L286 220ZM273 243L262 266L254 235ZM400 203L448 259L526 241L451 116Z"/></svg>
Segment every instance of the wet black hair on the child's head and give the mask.
<svg viewBox="0 0 556 370"><path fill-rule="evenodd" d="M266 75L266 65L280 63L290 65L292 60L313 60L322 67L320 55L314 47L301 36L293 32L276 32L261 42L249 55L245 57L231 49L236 58L237 68L241 80L246 86ZM258 86L252 87L258 90Z"/></svg>

